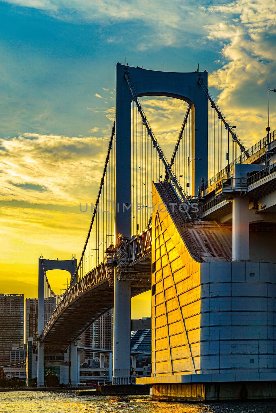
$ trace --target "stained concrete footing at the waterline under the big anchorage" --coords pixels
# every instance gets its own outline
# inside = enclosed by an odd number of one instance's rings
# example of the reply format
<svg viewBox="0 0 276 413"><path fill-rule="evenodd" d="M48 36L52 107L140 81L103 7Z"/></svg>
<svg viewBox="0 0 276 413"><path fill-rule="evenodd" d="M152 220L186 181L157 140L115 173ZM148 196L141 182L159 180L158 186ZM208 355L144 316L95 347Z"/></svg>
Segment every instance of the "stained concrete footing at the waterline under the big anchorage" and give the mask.
<svg viewBox="0 0 276 413"><path fill-rule="evenodd" d="M230 401L276 399L276 382L153 384L152 399L163 401Z"/></svg>

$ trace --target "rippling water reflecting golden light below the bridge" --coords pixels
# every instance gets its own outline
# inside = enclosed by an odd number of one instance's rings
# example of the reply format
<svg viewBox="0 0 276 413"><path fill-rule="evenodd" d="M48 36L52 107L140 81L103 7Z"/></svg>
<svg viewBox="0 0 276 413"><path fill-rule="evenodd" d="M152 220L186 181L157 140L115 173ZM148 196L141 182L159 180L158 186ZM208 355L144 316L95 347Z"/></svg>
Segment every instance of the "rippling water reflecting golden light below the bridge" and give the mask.
<svg viewBox="0 0 276 413"><path fill-rule="evenodd" d="M0 392L0 413L276 413L275 402L169 403L151 396L80 396L74 392Z"/></svg>

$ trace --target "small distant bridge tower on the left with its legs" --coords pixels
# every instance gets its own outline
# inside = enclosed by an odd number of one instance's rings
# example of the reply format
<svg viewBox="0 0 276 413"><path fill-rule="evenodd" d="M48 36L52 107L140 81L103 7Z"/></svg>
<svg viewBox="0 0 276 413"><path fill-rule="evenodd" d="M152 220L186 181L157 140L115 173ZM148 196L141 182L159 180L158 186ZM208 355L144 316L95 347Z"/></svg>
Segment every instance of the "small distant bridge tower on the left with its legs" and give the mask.
<svg viewBox="0 0 276 413"><path fill-rule="evenodd" d="M65 270L71 274L71 279L75 273L77 260L49 260L38 259L38 337L41 337L45 325L45 273L49 270ZM71 344L74 349L74 343ZM76 347L77 349L77 347ZM74 349L75 350L75 349ZM76 351L71 351L71 379L77 377L76 367L77 360L72 360L77 357ZM73 371L72 371L73 370ZM71 383L77 385L77 382ZM44 342L38 340L37 347L37 387L44 387Z"/></svg>

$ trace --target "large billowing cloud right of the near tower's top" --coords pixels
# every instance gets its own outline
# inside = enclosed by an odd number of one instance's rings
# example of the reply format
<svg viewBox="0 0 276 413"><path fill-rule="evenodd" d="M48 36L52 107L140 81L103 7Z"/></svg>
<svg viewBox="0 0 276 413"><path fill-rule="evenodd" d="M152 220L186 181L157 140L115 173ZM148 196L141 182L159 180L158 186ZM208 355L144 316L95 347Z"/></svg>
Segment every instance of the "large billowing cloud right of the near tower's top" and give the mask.
<svg viewBox="0 0 276 413"><path fill-rule="evenodd" d="M276 3L236 0L206 9L220 18L205 29L224 61L209 76L209 86L220 91L218 103L251 145L266 133L267 88L276 84ZM276 121L276 105L271 121Z"/></svg>

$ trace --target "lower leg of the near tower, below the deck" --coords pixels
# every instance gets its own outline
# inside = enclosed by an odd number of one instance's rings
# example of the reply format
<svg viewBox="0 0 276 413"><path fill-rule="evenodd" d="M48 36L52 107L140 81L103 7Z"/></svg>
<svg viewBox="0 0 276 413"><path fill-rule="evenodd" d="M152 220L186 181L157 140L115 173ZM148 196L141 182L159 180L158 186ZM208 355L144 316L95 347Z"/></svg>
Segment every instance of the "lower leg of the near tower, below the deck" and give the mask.
<svg viewBox="0 0 276 413"><path fill-rule="evenodd" d="M130 281L114 271L113 385L130 384Z"/></svg>

